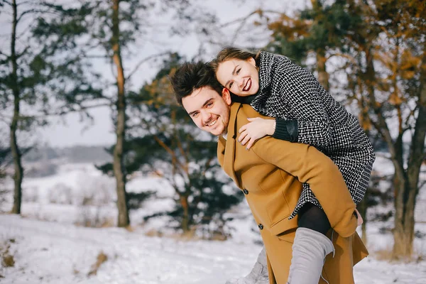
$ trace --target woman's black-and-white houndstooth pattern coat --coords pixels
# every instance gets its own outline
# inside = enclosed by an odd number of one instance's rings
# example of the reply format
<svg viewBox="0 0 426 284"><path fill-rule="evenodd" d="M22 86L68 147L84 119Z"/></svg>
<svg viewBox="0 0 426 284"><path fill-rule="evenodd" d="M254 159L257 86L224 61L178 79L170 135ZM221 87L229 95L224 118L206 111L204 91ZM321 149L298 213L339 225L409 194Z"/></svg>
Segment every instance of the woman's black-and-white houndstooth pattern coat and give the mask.
<svg viewBox="0 0 426 284"><path fill-rule="evenodd" d="M315 146L329 156L342 172L354 202L361 202L376 157L356 117L310 72L285 56L262 51L259 68L259 91L251 107L266 116L297 120L297 142ZM290 219L307 202L321 207L309 185L303 184Z"/></svg>

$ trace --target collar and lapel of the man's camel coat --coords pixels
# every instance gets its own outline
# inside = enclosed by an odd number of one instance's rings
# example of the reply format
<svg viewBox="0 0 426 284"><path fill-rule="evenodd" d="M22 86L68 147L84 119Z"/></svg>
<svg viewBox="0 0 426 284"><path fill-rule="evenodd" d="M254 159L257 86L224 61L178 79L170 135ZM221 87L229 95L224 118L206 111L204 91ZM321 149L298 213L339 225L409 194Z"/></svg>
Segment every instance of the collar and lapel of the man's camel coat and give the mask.
<svg viewBox="0 0 426 284"><path fill-rule="evenodd" d="M217 158L219 164L224 169L226 175L229 175L232 180L242 188L241 182L236 178L234 161L235 161L235 143L236 143L236 114L241 107L240 103L234 102L231 104L231 111L229 114L228 135L225 138L219 136L217 143Z"/></svg>

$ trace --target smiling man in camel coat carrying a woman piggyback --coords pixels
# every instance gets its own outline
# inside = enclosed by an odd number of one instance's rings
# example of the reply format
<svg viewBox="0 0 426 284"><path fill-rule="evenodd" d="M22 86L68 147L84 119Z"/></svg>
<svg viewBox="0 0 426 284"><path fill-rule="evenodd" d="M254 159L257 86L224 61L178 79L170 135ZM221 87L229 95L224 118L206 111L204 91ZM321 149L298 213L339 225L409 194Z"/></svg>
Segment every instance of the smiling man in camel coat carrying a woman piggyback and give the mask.
<svg viewBox="0 0 426 284"><path fill-rule="evenodd" d="M247 118L262 117L249 104L231 102L207 65L187 63L172 77L178 102L202 130L219 136L217 156L225 173L246 196L261 233L269 283L285 284L292 258L297 217L289 219L310 184L332 229L334 246L325 258L319 283L354 283L353 266L368 255L356 234L355 204L337 165L315 147L270 136L246 150L236 139ZM323 280L327 280L325 282Z"/></svg>

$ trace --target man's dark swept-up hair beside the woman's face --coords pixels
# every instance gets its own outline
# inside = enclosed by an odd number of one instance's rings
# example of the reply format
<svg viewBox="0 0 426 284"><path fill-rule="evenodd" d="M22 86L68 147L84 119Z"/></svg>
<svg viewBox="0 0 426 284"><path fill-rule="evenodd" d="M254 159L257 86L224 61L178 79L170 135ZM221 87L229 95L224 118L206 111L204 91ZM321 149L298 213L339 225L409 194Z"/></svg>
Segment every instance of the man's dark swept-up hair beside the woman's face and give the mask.
<svg viewBox="0 0 426 284"><path fill-rule="evenodd" d="M189 96L196 89L210 87L219 96L222 95L222 85L217 81L213 68L204 62L186 62L182 64L175 75L170 77L175 97L182 106L182 99Z"/></svg>

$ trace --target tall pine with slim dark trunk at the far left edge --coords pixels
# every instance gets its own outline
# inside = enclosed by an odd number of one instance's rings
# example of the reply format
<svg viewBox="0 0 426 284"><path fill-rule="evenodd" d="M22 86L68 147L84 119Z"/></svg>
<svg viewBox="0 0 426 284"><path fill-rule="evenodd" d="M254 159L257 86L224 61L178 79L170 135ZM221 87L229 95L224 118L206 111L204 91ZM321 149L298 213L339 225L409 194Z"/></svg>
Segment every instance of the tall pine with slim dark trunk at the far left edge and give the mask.
<svg viewBox="0 0 426 284"><path fill-rule="evenodd" d="M26 150L18 141L18 133L45 125L49 115L82 109L84 102L99 97L101 92L88 82L87 72L83 72L84 62L78 56L64 56L75 48L72 42L83 28L75 20L80 16L76 9L40 1L1 1L1 5L11 9L11 33L8 35L11 49L0 52L0 90L3 93L0 105L2 119L9 124L13 157L11 212L20 214L22 155ZM57 25L47 26L43 21L47 15ZM35 18L35 25L24 28L27 17L31 16ZM7 112L11 115L6 115Z"/></svg>

